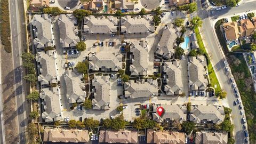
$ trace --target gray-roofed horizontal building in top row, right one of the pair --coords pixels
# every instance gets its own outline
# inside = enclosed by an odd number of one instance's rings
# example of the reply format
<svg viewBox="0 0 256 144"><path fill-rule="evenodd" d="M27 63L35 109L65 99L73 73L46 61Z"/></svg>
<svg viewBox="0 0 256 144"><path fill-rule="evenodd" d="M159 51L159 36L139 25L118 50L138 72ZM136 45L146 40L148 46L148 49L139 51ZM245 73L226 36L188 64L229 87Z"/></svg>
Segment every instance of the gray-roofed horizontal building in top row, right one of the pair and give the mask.
<svg viewBox="0 0 256 144"><path fill-rule="evenodd" d="M154 33L155 31L152 15L126 15L121 17L120 21L122 33Z"/></svg>

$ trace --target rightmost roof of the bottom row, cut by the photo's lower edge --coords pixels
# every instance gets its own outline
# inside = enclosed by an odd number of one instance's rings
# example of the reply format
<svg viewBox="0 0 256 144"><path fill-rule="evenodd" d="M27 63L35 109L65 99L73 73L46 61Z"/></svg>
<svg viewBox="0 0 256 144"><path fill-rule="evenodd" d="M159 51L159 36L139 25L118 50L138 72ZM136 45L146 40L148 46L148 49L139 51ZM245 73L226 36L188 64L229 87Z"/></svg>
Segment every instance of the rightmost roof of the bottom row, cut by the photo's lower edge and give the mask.
<svg viewBox="0 0 256 144"><path fill-rule="evenodd" d="M195 143L196 144L204 144L204 143L227 144L228 133L197 132L195 137Z"/></svg>

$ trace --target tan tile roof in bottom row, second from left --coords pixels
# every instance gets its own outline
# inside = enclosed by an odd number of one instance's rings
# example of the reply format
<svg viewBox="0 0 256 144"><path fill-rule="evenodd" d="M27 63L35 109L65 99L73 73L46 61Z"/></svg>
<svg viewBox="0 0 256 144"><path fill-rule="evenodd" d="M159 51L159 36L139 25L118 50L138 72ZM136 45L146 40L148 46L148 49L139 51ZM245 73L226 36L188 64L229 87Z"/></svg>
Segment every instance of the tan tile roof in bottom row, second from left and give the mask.
<svg viewBox="0 0 256 144"><path fill-rule="evenodd" d="M138 131L101 130L99 135L99 143L138 143Z"/></svg>

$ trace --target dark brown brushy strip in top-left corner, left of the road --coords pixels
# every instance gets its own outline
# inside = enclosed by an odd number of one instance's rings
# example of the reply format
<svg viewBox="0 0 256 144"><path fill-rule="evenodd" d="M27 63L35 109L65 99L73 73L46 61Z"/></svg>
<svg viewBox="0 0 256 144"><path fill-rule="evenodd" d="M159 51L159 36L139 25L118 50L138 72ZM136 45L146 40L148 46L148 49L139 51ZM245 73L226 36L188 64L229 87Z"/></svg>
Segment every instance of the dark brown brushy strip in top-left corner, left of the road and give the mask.
<svg viewBox="0 0 256 144"><path fill-rule="evenodd" d="M4 50L7 53L12 52L12 46L11 46L11 31L10 31L10 17L9 17L9 2L8 1L1 1L1 27L0 27L0 33L1 33L1 41L4 45Z"/></svg>

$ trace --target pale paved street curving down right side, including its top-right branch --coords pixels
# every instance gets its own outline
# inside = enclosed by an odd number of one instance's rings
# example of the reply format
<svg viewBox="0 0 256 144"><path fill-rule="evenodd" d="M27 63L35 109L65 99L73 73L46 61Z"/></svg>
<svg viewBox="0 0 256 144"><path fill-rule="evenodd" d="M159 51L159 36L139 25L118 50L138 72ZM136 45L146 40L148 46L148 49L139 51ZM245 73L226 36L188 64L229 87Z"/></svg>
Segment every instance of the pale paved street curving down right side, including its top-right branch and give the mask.
<svg viewBox="0 0 256 144"><path fill-rule="evenodd" d="M227 92L228 105L232 109L231 115L233 116L233 121L235 124L236 143L245 143L245 137L241 123L242 116L240 115L238 106L234 106L234 100L236 100L235 93L229 81L230 75L226 73L225 65L223 64L225 58L222 55L219 41L217 40L217 37L215 37L212 23L214 19L220 17L227 17L227 15L234 15L234 13L253 10L255 9L256 2L244 3L241 4L241 6L233 7L232 9L221 11L210 10L209 12L206 9L201 9L202 7L201 4L199 4L199 1L197 1L197 3L199 8L197 14L203 19L203 26L201 28L203 41L208 53L211 55L211 62L219 79L220 85L222 89ZM208 17L208 14L210 14L210 17Z"/></svg>

